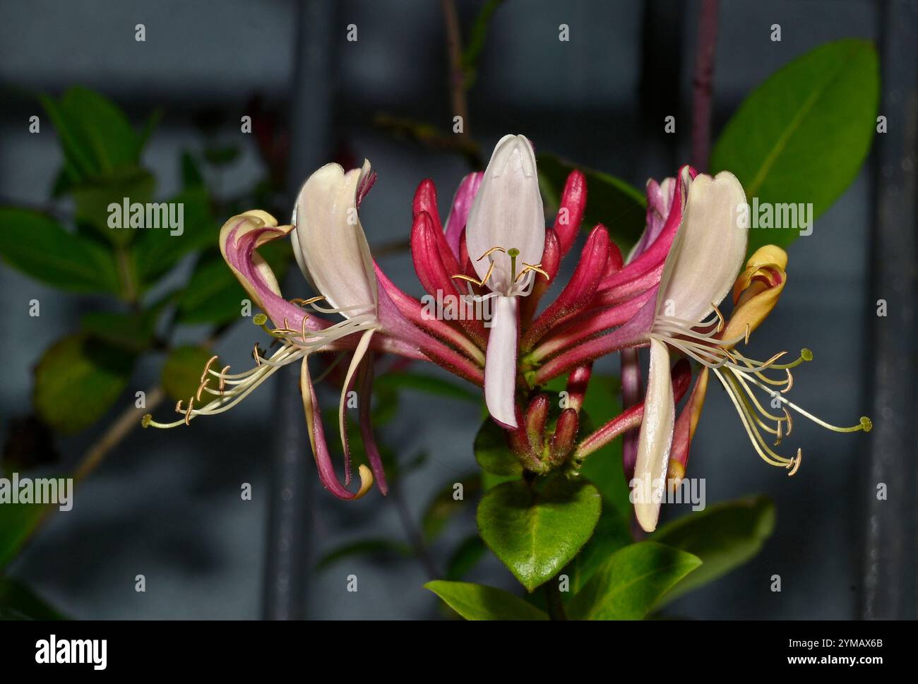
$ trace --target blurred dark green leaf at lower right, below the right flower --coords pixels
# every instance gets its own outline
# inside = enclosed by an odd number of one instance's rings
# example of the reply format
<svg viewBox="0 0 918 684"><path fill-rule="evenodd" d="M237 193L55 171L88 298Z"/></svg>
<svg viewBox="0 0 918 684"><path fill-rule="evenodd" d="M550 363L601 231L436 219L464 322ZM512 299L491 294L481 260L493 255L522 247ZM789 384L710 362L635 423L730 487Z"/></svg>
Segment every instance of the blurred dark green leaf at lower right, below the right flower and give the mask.
<svg viewBox="0 0 918 684"><path fill-rule="evenodd" d="M704 565L666 593L666 601L742 566L758 554L775 528L775 505L767 497L719 503L670 522L650 536L697 555Z"/></svg>

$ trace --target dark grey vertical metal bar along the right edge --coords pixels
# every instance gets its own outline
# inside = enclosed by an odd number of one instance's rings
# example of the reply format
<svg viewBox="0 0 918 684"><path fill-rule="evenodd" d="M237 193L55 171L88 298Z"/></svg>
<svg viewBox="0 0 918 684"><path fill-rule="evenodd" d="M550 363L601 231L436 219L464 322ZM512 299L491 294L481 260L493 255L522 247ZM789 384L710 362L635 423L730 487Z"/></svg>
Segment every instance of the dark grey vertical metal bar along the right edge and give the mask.
<svg viewBox="0 0 918 684"><path fill-rule="evenodd" d="M887 304L873 326L874 359L869 490L860 614L866 619L916 615L918 449L915 441L916 249L915 151L918 121L918 3L883 4L882 95L888 131L877 136L877 220L868 306ZM887 496L876 487L885 484Z"/></svg>

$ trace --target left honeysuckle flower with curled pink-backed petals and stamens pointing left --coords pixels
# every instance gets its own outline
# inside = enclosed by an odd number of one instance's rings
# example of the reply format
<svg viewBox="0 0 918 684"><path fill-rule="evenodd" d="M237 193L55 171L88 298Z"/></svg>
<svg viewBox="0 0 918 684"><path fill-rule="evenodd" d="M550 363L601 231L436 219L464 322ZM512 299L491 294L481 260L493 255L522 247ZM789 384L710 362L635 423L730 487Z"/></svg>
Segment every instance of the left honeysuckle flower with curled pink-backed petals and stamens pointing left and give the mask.
<svg viewBox="0 0 918 684"><path fill-rule="evenodd" d="M256 322L262 325L267 319L274 322L274 329L265 328L280 342L280 347L270 357L265 357L256 345L253 352L255 367L241 374L229 374L229 366L219 372L211 368L217 358L215 356L204 369L196 397L189 400L186 409L182 409L182 402L176 407L184 413L184 419L159 423L147 416L144 418L145 426L174 427L187 424L196 416L222 413L238 404L280 367L300 362L300 385L309 440L322 484L341 499L357 499L372 487L375 477L380 490L386 493L386 475L369 429L369 393L373 376L371 350L375 348L409 358L432 359L476 383L483 383L483 376L480 367L467 357L412 325L393 302L386 287L379 287L375 264L357 213L357 207L373 185L374 178L369 163L347 174L338 164L327 164L309 176L300 190L293 225L277 226L276 220L263 211L245 212L227 221L220 230L220 249L229 268L266 314L256 317ZM256 252L265 242L287 234L291 236L297 264L308 282L319 292L318 297L287 301L281 296L271 268ZM341 316L343 320L330 323L316 318L304 306L320 313ZM377 335L382 340L374 344ZM311 353L334 350L353 350L339 402L345 470L343 485L331 463L308 368ZM350 450L344 409L347 392L358 379L361 432L372 471L360 466L360 487L352 492L346 487L350 483ZM217 389L210 387L214 381L218 382ZM195 408L195 401L200 402L204 394L216 398Z"/></svg>

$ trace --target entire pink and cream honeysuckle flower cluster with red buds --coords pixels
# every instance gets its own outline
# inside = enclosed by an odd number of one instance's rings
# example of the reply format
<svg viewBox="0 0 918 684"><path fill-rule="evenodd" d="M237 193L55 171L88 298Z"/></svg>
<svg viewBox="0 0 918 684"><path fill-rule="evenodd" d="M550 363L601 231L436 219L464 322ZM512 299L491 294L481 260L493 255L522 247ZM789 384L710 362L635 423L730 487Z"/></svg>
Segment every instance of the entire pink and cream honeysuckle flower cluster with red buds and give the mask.
<svg viewBox="0 0 918 684"><path fill-rule="evenodd" d="M266 356L256 345L255 364L243 373L207 364L196 397L176 407L180 420L159 423L147 416L144 425L173 427L228 410L278 368L298 362L322 484L341 499L363 496L374 481L385 494L386 473L369 407L375 353L398 354L438 364L482 387L488 412L531 473L565 468L573 477L589 454L624 435L635 514L648 531L655 529L666 482L685 474L711 374L733 402L756 452L767 463L788 468L789 475L800 467L800 450L790 458L779 455L763 432L774 436L777 446L792 430L791 411L840 432L869 430L866 418L852 428L828 425L785 397L792 386L790 369L812 358L807 350L796 361L780 363L784 353L756 361L736 349L774 308L787 280L787 255L768 246L742 269L747 230L737 225L737 216L745 196L733 174L711 177L685 166L674 178L648 182L646 228L627 259L609 231L597 225L566 283L555 281L580 232L587 203L583 174L575 171L567 178L551 228L545 226L532 144L522 136L504 137L487 169L463 179L445 227L434 185L422 182L411 227L420 285L436 301L450 297L476 311L487 304L489 320L431 316L428 306L400 290L375 264L358 211L374 181L369 163L347 173L328 164L303 185L291 225L278 226L263 211L227 221L220 249L263 310L258 322L271 320L265 328L277 348ZM314 297L285 298L258 254L264 243L288 235ZM554 299L540 306L552 288L558 290ZM728 321L718 307L731 291ZM649 347L650 359L643 396L642 347ZM351 354L339 402L343 482L331 461L308 366L310 355L325 352ZM581 434L592 363L609 353L621 353L625 408ZM543 388L560 376L566 378L566 395L564 407L555 412ZM370 464L360 466L356 490L349 488L345 423L345 398L353 389ZM677 404L687 394L677 416ZM205 396L209 400L202 400Z"/></svg>

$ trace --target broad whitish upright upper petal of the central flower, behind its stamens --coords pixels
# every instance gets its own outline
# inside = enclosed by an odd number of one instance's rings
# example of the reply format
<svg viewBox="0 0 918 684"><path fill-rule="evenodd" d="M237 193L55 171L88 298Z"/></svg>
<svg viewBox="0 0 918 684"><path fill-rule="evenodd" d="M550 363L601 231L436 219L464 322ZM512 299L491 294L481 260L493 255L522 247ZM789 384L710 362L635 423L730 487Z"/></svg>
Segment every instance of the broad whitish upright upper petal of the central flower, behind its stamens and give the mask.
<svg viewBox="0 0 918 684"><path fill-rule="evenodd" d="M487 275L490 262L477 259L492 247L520 250L517 273L521 264L538 264L542 260L545 214L535 153L523 136L504 136L494 148L468 215L465 243L479 278ZM495 263L492 289L507 293L512 286L509 257L494 252L491 258Z"/></svg>

